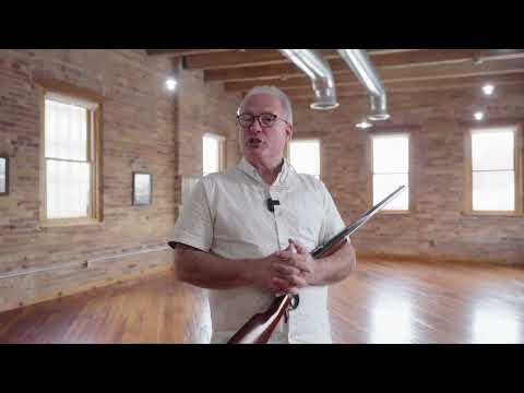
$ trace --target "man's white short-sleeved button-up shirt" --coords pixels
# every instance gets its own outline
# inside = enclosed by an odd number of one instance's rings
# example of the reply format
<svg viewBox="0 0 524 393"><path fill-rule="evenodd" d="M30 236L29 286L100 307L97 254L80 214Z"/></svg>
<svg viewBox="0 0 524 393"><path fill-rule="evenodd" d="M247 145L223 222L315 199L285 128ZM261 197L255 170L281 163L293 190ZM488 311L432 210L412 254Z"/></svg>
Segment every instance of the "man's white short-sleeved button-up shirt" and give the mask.
<svg viewBox="0 0 524 393"><path fill-rule="evenodd" d="M279 201L273 213L269 198ZM227 259L254 259L287 248L289 238L311 251L344 227L322 181L297 174L285 160L269 186L242 158L237 167L207 175L195 186L168 240ZM275 296L258 287L210 289L209 295L213 342L226 342ZM274 335L287 334L289 343L331 343L327 287L301 288L299 296L289 325L283 319Z"/></svg>

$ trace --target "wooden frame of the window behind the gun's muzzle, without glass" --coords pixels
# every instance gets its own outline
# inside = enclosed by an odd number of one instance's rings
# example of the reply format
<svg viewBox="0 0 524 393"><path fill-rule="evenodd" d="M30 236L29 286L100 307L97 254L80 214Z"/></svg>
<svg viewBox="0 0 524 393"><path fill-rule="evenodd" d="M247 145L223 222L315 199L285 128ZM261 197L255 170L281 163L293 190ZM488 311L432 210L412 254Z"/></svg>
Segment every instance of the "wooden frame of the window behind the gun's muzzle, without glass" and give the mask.
<svg viewBox="0 0 524 393"><path fill-rule="evenodd" d="M369 180L368 180L368 195L369 202L368 207L371 209L373 206L373 138L374 136L394 136L394 135L407 135L407 148L408 148L408 172L407 172L407 181L408 181L408 196L407 196L407 210L380 210L377 214L393 214L393 215L410 215L415 210L415 201L414 201L414 184L415 184L415 139L416 139L416 130L412 127L400 127L398 129L391 129L391 130L371 130L368 131L368 165L369 165ZM392 191L393 192L393 191Z"/></svg>

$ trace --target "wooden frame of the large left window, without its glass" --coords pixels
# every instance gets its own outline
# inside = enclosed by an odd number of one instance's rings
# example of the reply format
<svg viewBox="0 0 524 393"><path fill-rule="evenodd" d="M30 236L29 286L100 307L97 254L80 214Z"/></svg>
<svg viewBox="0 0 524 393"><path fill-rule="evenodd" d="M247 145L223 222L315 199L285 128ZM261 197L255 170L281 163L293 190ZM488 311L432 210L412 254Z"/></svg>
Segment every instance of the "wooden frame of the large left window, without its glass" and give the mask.
<svg viewBox="0 0 524 393"><path fill-rule="evenodd" d="M104 221L103 212L103 177L102 177L102 134L103 134L103 103L104 97L95 92L75 85L56 81L37 80L39 87L39 121L40 121L40 170L39 170L39 221L41 227L75 226L98 224ZM47 217L47 159L46 159L46 98L60 96L66 102L79 105L86 102L96 105L95 109L87 109L87 160L91 164L91 196L86 217L48 218ZM51 97L52 99L52 97Z"/></svg>

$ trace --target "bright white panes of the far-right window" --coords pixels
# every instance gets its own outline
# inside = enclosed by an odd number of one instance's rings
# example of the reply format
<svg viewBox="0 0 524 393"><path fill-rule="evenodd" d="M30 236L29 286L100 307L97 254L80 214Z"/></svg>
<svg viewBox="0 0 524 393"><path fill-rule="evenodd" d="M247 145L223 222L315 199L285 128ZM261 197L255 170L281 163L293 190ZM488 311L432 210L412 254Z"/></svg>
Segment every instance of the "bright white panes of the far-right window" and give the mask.
<svg viewBox="0 0 524 393"><path fill-rule="evenodd" d="M516 127L472 129L471 199L473 212L512 212L519 210L519 151Z"/></svg>

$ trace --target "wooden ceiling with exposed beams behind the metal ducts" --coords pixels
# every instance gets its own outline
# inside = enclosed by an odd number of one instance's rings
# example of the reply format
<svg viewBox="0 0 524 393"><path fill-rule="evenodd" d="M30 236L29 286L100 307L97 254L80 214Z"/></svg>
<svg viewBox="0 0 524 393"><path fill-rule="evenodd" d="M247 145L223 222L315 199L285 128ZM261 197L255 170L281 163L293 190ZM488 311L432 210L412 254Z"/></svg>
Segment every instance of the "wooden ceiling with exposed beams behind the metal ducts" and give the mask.
<svg viewBox="0 0 524 393"><path fill-rule="evenodd" d="M313 99L310 79L277 49L147 49L150 56L182 59L207 82L246 93L275 85L294 100ZM334 73L338 97L366 94L335 49L320 49ZM523 85L524 49L368 49L386 93L472 88L486 82Z"/></svg>

